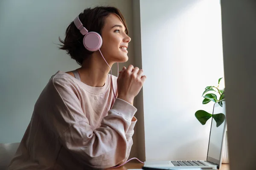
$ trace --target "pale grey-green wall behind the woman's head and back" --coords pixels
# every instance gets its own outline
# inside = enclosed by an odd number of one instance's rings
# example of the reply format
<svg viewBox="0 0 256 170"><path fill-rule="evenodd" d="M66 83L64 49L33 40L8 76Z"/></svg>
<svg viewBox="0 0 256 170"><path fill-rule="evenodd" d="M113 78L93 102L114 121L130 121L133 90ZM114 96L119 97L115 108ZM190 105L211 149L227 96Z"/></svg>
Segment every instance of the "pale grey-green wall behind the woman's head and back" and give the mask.
<svg viewBox="0 0 256 170"><path fill-rule="evenodd" d="M58 50L58 36L64 38L70 22L84 8L96 5L119 8L133 39L132 0L0 1L0 143L20 142L50 77L58 70L79 67ZM133 64L133 42L128 55L122 65Z"/></svg>

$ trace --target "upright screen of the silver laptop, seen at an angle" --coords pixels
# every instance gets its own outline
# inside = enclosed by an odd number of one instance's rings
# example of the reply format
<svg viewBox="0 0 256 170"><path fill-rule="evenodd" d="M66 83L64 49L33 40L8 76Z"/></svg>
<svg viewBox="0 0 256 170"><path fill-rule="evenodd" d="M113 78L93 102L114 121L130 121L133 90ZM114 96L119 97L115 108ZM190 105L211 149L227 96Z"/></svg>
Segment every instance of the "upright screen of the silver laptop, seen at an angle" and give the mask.
<svg viewBox="0 0 256 170"><path fill-rule="evenodd" d="M209 137L207 161L220 164L221 147L226 128L226 104L225 101L214 104L212 125Z"/></svg>

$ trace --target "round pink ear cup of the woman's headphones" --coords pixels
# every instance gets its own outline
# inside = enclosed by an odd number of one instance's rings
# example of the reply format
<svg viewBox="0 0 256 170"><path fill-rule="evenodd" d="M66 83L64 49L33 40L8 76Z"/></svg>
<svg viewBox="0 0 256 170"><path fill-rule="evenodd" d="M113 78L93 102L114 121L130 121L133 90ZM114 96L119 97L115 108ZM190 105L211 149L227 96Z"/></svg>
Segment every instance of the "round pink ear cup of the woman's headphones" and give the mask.
<svg viewBox="0 0 256 170"><path fill-rule="evenodd" d="M88 51L97 51L102 46L102 37L94 31L90 31L84 35L84 47Z"/></svg>

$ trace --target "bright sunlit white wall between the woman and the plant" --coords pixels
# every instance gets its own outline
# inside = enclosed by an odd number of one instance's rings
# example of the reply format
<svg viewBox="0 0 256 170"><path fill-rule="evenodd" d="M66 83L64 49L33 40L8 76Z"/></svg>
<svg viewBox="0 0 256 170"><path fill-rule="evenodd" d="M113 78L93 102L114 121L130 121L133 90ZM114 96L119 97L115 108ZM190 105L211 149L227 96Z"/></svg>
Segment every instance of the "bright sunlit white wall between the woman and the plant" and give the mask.
<svg viewBox="0 0 256 170"><path fill-rule="evenodd" d="M206 159L210 121L195 111L224 76L218 0L140 0L147 161Z"/></svg>

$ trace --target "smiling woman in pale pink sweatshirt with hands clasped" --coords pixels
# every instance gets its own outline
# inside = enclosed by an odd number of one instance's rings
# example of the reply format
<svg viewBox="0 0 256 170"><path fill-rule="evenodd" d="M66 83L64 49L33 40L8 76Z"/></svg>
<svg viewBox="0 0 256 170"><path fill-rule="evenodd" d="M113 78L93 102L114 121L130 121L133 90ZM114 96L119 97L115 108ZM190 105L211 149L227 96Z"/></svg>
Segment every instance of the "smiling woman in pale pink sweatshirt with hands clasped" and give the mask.
<svg viewBox="0 0 256 170"><path fill-rule="evenodd" d="M51 77L9 170L105 169L128 159L137 122L133 100L146 77L132 65L118 78L108 74L114 63L128 60L131 41L118 9L87 8L78 18L102 36L100 51L88 51L70 23L61 49L81 67Z"/></svg>

